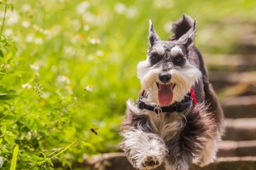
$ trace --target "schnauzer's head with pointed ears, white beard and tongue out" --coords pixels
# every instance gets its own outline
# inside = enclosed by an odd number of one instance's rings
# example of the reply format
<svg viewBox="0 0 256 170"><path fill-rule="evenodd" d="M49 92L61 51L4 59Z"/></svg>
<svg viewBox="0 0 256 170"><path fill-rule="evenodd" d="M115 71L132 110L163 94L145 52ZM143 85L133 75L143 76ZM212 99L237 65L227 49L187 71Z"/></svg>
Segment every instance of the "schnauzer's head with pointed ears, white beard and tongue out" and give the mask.
<svg viewBox="0 0 256 170"><path fill-rule="evenodd" d="M195 39L195 24L178 40L161 41L149 20L147 59L137 65L137 75L148 98L158 105L181 101L201 77L201 71L188 60L188 48Z"/></svg>

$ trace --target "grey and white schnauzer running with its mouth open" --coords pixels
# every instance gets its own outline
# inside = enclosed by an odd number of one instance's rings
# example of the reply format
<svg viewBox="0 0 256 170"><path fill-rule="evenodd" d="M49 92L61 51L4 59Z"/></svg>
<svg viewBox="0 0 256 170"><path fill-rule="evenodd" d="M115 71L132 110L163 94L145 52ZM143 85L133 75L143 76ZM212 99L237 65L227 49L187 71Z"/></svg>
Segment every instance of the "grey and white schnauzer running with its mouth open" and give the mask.
<svg viewBox="0 0 256 170"><path fill-rule="evenodd" d="M142 90L129 99L122 124L122 150L137 169L186 170L216 158L224 114L195 47L196 21L189 15L161 41L149 20L147 59L137 65Z"/></svg>

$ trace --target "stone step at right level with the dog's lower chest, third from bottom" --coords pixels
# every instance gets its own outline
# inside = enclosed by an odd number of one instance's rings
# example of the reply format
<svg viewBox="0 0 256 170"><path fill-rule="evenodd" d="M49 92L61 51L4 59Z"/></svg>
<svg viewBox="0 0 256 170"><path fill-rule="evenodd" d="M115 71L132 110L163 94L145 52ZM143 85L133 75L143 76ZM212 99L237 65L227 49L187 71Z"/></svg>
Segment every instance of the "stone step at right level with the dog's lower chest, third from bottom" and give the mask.
<svg viewBox="0 0 256 170"><path fill-rule="evenodd" d="M256 140L256 118L225 119L224 140Z"/></svg>

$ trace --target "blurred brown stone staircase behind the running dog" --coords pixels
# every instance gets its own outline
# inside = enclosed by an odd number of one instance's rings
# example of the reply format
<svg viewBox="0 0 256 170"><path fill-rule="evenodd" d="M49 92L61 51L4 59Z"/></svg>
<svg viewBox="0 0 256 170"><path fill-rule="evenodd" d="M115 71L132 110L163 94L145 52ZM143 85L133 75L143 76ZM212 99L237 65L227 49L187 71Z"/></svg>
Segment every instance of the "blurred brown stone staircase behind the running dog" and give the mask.
<svg viewBox="0 0 256 170"><path fill-rule="evenodd" d="M243 39L237 46L243 47L240 54L205 55L224 109L225 135L216 162L207 167L193 165L191 170L256 170L256 43ZM134 169L122 152L84 160L90 169Z"/></svg>

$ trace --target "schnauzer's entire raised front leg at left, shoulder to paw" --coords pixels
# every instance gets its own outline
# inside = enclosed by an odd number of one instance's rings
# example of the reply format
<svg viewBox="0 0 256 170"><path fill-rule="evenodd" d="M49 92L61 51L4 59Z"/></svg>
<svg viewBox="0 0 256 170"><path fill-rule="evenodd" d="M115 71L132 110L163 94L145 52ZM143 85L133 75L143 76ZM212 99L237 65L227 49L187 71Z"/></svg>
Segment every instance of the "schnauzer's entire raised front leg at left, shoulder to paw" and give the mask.
<svg viewBox="0 0 256 170"><path fill-rule="evenodd" d="M166 156L166 145L154 133L147 114L140 111L131 100L127 101L121 135L121 149L125 151L133 167L153 169L162 164Z"/></svg>

